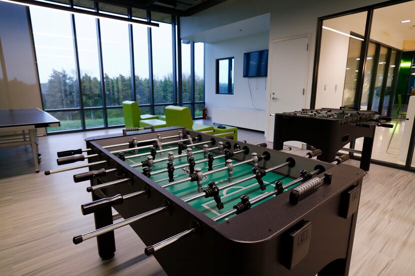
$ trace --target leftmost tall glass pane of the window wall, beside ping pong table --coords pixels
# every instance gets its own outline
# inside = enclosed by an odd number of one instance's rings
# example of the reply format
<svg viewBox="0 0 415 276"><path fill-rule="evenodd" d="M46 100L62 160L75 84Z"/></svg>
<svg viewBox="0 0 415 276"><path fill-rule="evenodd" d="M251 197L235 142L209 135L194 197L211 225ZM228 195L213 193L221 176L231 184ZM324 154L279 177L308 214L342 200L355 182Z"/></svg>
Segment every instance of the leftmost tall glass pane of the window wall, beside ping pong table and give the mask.
<svg viewBox="0 0 415 276"><path fill-rule="evenodd" d="M60 127L48 131L80 129L79 111L70 111L80 107L71 16L62 11L30 7L30 17L43 108L61 121Z"/></svg>

